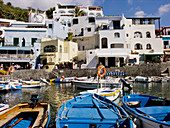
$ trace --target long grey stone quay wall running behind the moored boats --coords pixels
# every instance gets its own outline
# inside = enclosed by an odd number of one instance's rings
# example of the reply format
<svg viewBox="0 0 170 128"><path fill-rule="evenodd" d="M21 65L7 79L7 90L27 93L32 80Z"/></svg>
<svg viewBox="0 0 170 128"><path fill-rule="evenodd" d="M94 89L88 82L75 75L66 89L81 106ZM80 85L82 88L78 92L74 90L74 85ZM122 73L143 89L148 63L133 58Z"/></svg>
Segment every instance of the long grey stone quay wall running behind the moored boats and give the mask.
<svg viewBox="0 0 170 128"><path fill-rule="evenodd" d="M153 63L153 64L141 64L134 66L124 66L124 67L113 67L107 68L106 72L125 72L126 76L161 76L161 71L165 69L170 69L170 63ZM36 70L16 70L12 74L13 79L30 80L40 80L40 78L51 79L56 78L56 76L61 77L82 77L82 76L94 76L97 73L97 69L55 69L52 72L47 72L46 69L36 69ZM0 80L9 79L10 76L0 76Z"/></svg>

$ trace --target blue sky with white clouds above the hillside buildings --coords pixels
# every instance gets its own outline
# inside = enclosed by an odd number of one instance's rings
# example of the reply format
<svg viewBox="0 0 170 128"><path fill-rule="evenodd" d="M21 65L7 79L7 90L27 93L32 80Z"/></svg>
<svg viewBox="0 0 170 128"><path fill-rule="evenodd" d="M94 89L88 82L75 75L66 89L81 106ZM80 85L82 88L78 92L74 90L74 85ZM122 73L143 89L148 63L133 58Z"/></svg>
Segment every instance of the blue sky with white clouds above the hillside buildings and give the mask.
<svg viewBox="0 0 170 128"><path fill-rule="evenodd" d="M3 0L14 7L48 10L57 3L102 6L104 15L160 17L161 26L170 26L170 0Z"/></svg>

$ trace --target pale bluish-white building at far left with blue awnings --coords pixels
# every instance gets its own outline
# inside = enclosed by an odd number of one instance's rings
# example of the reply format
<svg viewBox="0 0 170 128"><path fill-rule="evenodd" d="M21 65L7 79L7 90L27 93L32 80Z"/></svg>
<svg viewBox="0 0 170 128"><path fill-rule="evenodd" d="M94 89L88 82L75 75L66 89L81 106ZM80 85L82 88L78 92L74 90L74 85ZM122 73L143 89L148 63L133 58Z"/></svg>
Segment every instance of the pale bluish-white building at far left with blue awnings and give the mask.
<svg viewBox="0 0 170 128"><path fill-rule="evenodd" d="M10 27L3 27L2 29L5 38L1 48L2 59L0 62L4 63L6 59L8 59L9 63L26 62L24 65L30 63L32 68L35 68L36 64L39 63L42 37L50 37L54 40L58 38L66 39L68 33L66 26L50 20L46 20L45 23L16 21L10 23ZM19 60L18 57L20 58Z"/></svg>

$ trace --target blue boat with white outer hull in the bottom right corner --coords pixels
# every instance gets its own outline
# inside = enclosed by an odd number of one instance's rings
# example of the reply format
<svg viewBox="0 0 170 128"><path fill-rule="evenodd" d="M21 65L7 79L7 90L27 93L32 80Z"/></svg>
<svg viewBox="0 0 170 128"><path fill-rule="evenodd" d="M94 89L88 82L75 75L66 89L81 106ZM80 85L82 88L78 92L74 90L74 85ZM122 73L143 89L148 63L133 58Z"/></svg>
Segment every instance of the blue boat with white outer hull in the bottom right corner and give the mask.
<svg viewBox="0 0 170 128"><path fill-rule="evenodd" d="M132 116L137 127L170 127L170 100L150 95L130 94L122 98L122 107Z"/></svg>

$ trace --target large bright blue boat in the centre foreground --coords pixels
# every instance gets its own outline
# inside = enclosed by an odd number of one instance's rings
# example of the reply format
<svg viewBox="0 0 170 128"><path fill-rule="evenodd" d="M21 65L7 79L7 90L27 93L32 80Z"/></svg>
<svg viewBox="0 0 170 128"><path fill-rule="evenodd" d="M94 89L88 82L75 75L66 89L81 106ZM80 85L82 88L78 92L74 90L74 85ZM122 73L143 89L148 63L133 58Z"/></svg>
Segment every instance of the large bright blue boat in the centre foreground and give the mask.
<svg viewBox="0 0 170 128"><path fill-rule="evenodd" d="M63 104L56 115L57 128L133 128L128 114L106 97L86 93Z"/></svg>

